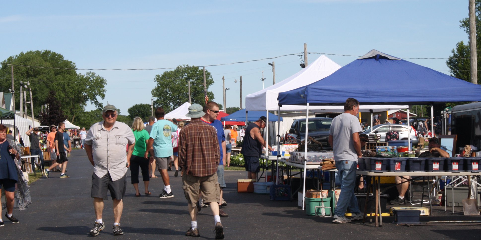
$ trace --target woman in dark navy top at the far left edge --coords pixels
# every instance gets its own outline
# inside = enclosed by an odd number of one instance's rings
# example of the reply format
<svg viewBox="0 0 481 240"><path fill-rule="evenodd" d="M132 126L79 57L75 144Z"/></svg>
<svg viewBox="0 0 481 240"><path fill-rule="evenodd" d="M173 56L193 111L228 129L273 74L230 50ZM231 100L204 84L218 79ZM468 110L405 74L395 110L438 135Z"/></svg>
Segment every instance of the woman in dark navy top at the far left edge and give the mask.
<svg viewBox="0 0 481 240"><path fill-rule="evenodd" d="M7 212L5 213L5 217L12 223L19 222L12 215L13 200L15 199L15 184L18 182L18 172L15 159L20 159L18 147L14 145L13 141L7 139L7 127L0 125L0 189L3 189L6 197ZM0 210L0 227L3 226L4 223Z"/></svg>

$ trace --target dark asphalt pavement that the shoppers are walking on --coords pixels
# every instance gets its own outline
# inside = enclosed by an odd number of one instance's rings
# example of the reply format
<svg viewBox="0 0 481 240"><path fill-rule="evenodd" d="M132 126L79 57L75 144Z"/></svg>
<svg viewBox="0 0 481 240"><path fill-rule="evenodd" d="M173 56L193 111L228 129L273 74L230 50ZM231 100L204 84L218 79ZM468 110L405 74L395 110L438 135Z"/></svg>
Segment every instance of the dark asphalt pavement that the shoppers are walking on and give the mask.
<svg viewBox="0 0 481 240"><path fill-rule="evenodd" d="M191 239L185 236L190 227L187 201L181 189L182 181L169 171L174 198L160 199L163 182L151 178L152 195L135 197L135 190L127 178L127 193L121 219L123 236L113 236L114 216L112 200L105 201L103 221L106 225L99 236L92 237L89 230L95 221L90 197L90 181L93 167L83 150L74 150L69 157L67 175L51 173L30 185L32 204L28 209L14 209L20 220L12 224L4 216L0 227L2 239ZM130 176L130 172L127 173ZM225 172L227 188L224 199L228 205L222 217L226 239L478 239L481 226L396 226L394 218L383 217L382 227L356 221L348 224L332 224L331 217L308 216L297 207L297 200L270 201L269 195L237 193L237 179L245 178L244 171ZM140 178L140 192L144 192ZM389 205L388 205L389 207ZM450 209L448 209L450 210ZM444 207L433 207L431 216L421 216L421 222L435 220L481 220L481 216L464 216L462 207L455 214L444 212ZM198 215L200 238L214 239L214 217L209 208Z"/></svg>

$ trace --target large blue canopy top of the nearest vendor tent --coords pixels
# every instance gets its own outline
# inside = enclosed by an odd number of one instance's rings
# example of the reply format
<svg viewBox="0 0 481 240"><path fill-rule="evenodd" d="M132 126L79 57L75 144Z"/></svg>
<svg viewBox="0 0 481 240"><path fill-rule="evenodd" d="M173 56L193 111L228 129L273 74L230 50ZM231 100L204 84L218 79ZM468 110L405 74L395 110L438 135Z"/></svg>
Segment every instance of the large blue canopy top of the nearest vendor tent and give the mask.
<svg viewBox="0 0 481 240"><path fill-rule="evenodd" d="M281 92L279 105L432 104L481 101L481 86L372 50L310 85Z"/></svg>

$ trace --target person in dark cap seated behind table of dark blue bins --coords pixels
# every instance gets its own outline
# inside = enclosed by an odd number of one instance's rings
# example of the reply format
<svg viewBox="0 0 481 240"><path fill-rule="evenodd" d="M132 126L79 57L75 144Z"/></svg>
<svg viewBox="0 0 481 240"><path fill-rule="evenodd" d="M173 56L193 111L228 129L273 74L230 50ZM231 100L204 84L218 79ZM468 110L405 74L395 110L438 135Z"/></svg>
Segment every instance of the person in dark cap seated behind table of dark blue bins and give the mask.
<svg viewBox="0 0 481 240"><path fill-rule="evenodd" d="M438 138L430 138L428 145L429 150L419 154L419 157L449 157L449 153L442 150L440 147L441 145L439 144ZM399 192L399 196L390 202L392 205L404 204L406 202L404 197L409 188L409 182L407 179L409 179L409 176L396 176L396 188Z"/></svg>

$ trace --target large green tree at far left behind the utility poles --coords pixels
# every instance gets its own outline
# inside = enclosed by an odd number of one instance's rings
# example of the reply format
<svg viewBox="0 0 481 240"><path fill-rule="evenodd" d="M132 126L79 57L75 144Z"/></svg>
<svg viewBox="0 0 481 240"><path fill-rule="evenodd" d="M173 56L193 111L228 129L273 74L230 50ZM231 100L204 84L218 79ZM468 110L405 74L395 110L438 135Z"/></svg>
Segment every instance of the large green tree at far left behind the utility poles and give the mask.
<svg viewBox="0 0 481 240"><path fill-rule="evenodd" d="M101 108L97 97L105 97L104 86L107 83L101 76L88 72L86 75L77 74L75 63L64 59L62 54L43 50L27 51L10 56L1 62L0 79L10 79L11 66L7 64L55 67L21 67L14 66L13 77L16 93L19 93L20 82L30 82L32 88L34 113L40 112L41 105L47 103L47 92L53 91L54 97L60 101L61 109L67 118L74 123L75 117L83 114L87 102ZM72 68L72 69L65 69ZM11 81L0 81L0 90L8 91L12 88ZM15 106L18 108L20 94L15 94ZM27 100L29 98L27 97Z"/></svg>

